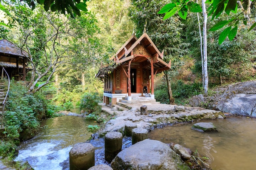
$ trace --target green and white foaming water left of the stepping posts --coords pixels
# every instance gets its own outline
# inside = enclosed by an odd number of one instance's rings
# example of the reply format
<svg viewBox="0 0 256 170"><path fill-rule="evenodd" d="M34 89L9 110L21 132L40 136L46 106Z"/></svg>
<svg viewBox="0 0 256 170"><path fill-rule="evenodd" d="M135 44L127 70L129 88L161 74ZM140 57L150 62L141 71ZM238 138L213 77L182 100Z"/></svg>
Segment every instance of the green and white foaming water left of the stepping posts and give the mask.
<svg viewBox="0 0 256 170"><path fill-rule="evenodd" d="M35 170L69 170L69 152L74 144L90 138L84 117L62 116L42 122L47 128L33 139L23 142L16 160L25 161Z"/></svg>

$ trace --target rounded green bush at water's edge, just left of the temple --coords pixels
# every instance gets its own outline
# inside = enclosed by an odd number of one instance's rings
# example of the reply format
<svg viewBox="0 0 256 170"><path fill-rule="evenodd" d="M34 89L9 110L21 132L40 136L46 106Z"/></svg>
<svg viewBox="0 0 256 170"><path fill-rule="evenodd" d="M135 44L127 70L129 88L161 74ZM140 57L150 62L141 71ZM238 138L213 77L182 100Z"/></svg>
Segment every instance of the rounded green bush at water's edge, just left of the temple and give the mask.
<svg viewBox="0 0 256 170"><path fill-rule="evenodd" d="M88 114L99 115L101 106L98 104L101 98L98 93L85 93L80 102L80 109Z"/></svg>

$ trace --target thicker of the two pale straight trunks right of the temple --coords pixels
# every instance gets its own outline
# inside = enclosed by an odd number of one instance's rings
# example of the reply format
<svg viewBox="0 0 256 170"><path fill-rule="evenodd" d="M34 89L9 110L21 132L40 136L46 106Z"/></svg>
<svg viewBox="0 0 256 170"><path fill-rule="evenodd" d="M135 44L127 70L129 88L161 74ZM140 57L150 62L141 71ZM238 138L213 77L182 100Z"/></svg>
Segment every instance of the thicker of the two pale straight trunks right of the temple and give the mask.
<svg viewBox="0 0 256 170"><path fill-rule="evenodd" d="M207 71L207 13L205 7L205 0L202 0L203 9L203 57L204 57L204 95L208 93L208 71Z"/></svg>

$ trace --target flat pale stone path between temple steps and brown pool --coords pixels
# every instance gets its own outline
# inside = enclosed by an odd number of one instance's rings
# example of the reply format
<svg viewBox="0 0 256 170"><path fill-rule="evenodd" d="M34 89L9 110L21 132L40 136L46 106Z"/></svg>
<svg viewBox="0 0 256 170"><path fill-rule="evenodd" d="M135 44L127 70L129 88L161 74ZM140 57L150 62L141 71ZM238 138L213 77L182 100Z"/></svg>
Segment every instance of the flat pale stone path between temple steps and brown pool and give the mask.
<svg viewBox="0 0 256 170"><path fill-rule="evenodd" d="M149 114L141 115L140 106L142 105L128 105L124 108L114 105L113 108L110 108L103 105L103 112L113 115L113 118L106 122L105 126L99 130L99 133L105 134L110 131L123 133L124 126L128 122L137 124L138 128L152 130L156 127L163 127L181 122L225 118L225 115L220 111L169 104L148 104L147 109Z"/></svg>

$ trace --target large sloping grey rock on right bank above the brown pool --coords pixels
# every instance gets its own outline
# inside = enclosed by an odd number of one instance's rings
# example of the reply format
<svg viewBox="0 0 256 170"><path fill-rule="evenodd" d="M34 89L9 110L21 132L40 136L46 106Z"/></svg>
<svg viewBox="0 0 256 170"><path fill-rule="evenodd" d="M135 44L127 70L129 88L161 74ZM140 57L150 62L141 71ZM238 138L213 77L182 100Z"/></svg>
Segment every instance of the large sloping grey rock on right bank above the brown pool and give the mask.
<svg viewBox="0 0 256 170"><path fill-rule="evenodd" d="M194 96L189 105L256 117L256 80L222 86L213 90L213 93L210 97Z"/></svg>

